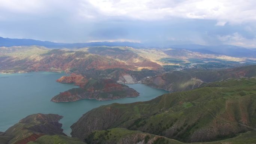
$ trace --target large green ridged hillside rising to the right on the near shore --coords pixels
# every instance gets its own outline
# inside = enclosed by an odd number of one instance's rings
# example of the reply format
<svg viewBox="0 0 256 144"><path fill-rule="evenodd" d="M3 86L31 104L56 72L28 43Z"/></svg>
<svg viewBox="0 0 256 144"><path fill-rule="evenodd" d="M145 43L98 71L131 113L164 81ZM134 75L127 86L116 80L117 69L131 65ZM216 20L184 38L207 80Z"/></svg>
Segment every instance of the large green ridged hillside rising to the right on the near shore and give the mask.
<svg viewBox="0 0 256 144"><path fill-rule="evenodd" d="M183 142L214 141L256 129L256 79L214 82L146 102L111 104L84 114L71 128L81 140L95 130L127 128Z"/></svg>

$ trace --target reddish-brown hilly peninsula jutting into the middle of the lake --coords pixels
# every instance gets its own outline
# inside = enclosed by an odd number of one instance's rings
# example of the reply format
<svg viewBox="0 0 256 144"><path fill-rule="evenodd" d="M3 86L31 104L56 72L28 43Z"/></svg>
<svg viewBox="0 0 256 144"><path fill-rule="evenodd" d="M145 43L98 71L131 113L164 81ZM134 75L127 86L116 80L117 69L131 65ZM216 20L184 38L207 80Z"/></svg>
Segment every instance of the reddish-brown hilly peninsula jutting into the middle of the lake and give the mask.
<svg viewBox="0 0 256 144"><path fill-rule="evenodd" d="M139 93L126 85L112 79L89 79L83 87L73 88L54 96L53 102L77 101L80 99L97 99L100 101L135 97Z"/></svg>

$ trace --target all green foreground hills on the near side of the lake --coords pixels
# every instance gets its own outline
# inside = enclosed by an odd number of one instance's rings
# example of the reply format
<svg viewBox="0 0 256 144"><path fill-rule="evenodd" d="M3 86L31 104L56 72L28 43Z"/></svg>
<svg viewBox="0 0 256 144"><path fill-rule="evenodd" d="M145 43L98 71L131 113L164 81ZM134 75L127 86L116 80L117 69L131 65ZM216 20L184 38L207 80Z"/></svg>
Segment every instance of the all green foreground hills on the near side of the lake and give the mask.
<svg viewBox="0 0 256 144"><path fill-rule="evenodd" d="M63 133L58 122L63 116L32 114L0 132L0 142L253 143L256 140L255 84L255 77L227 79L149 101L103 105L88 111L71 126L72 138Z"/></svg>

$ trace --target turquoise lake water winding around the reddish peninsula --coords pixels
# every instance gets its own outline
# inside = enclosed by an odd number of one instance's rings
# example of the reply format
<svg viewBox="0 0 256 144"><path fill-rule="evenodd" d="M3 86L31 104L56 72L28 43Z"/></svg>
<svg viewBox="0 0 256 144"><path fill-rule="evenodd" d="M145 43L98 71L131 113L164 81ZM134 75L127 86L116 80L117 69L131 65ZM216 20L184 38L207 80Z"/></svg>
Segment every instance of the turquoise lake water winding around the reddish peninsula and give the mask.
<svg viewBox="0 0 256 144"><path fill-rule="evenodd" d="M54 113L64 116L60 120L64 133L70 135L70 126L84 113L100 105L147 101L167 91L150 88L141 84L128 85L140 93L135 98L97 101L82 99L75 102L51 102L51 98L60 92L77 88L72 84L55 82L65 73L33 72L0 74L0 131L18 123L18 121L34 113Z"/></svg>

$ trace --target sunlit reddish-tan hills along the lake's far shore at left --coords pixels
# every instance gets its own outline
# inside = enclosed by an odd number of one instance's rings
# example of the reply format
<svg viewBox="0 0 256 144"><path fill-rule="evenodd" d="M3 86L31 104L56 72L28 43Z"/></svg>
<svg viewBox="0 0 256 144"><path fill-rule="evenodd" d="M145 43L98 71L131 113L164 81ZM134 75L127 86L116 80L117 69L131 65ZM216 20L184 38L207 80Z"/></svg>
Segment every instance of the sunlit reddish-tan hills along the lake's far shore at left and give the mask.
<svg viewBox="0 0 256 144"><path fill-rule="evenodd" d="M30 71L70 71L83 72L89 69L105 70L108 68L135 69L124 62L90 54L85 51L51 50L46 53L31 53L26 56L24 51L0 56L0 72Z"/></svg>

